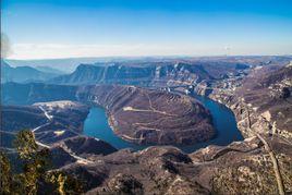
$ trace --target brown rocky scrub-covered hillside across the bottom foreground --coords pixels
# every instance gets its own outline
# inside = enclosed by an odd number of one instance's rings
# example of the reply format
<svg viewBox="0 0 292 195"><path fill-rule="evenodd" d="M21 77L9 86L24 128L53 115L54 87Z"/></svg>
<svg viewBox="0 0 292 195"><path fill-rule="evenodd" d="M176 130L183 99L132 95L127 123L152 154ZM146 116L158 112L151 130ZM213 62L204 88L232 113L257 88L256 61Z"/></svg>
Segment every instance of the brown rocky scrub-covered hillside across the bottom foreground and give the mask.
<svg viewBox="0 0 292 195"><path fill-rule="evenodd" d="M278 158L285 192L291 192L291 145L278 137L267 141ZM271 160L256 137L190 155L174 147L149 147L90 160L61 168L96 181L87 185L88 194L278 194Z"/></svg>

